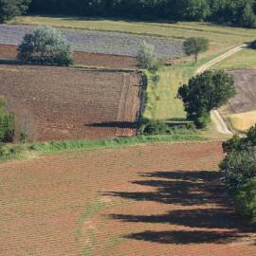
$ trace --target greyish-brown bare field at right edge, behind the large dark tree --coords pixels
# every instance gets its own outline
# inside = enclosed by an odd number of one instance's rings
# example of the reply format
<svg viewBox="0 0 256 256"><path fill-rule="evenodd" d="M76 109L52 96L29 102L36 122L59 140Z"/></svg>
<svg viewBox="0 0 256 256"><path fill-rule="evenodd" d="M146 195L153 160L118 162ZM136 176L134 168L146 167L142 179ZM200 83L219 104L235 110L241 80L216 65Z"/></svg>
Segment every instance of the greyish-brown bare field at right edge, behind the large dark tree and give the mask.
<svg viewBox="0 0 256 256"><path fill-rule="evenodd" d="M256 110L256 69L229 70L235 79L237 95L229 101L224 114Z"/></svg>

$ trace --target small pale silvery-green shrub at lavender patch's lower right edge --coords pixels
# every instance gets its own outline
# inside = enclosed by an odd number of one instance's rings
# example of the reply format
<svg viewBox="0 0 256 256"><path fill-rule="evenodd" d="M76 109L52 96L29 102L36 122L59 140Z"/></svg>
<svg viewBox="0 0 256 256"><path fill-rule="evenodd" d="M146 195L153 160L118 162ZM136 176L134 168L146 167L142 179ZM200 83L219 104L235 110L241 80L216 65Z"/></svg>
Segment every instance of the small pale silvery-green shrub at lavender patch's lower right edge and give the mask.
<svg viewBox="0 0 256 256"><path fill-rule="evenodd" d="M159 69L160 62L157 60L155 47L143 41L137 52L137 64L139 67L153 72Z"/></svg>

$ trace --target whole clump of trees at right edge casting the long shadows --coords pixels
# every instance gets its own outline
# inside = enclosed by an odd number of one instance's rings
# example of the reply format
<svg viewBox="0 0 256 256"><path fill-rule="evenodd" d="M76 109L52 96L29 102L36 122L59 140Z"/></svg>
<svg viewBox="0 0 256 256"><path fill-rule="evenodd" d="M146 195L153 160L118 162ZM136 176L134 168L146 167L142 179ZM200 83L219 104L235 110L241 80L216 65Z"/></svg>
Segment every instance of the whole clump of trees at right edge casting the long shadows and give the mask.
<svg viewBox="0 0 256 256"><path fill-rule="evenodd" d="M226 153L220 164L223 181L239 214L256 224L256 125L246 137L237 135L223 143Z"/></svg>

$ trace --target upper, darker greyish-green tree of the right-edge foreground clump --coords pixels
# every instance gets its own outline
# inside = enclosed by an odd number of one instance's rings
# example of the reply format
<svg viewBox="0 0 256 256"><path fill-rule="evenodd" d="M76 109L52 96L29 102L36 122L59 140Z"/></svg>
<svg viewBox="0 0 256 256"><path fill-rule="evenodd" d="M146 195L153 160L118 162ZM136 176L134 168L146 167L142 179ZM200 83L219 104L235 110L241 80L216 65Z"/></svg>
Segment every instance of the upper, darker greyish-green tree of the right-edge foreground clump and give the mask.
<svg viewBox="0 0 256 256"><path fill-rule="evenodd" d="M227 153L220 164L221 174L230 192L237 192L247 180L256 177L256 126L247 137L234 136L223 143Z"/></svg>

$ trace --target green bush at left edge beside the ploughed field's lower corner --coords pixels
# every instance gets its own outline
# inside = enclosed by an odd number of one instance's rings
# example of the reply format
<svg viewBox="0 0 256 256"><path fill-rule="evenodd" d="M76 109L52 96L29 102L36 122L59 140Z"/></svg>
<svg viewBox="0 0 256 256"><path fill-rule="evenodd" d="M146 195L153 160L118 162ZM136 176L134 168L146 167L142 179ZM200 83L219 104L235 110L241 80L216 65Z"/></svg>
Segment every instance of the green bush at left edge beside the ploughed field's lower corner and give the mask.
<svg viewBox="0 0 256 256"><path fill-rule="evenodd" d="M0 97L0 142L12 142L15 131L14 115L6 109L7 101Z"/></svg>

